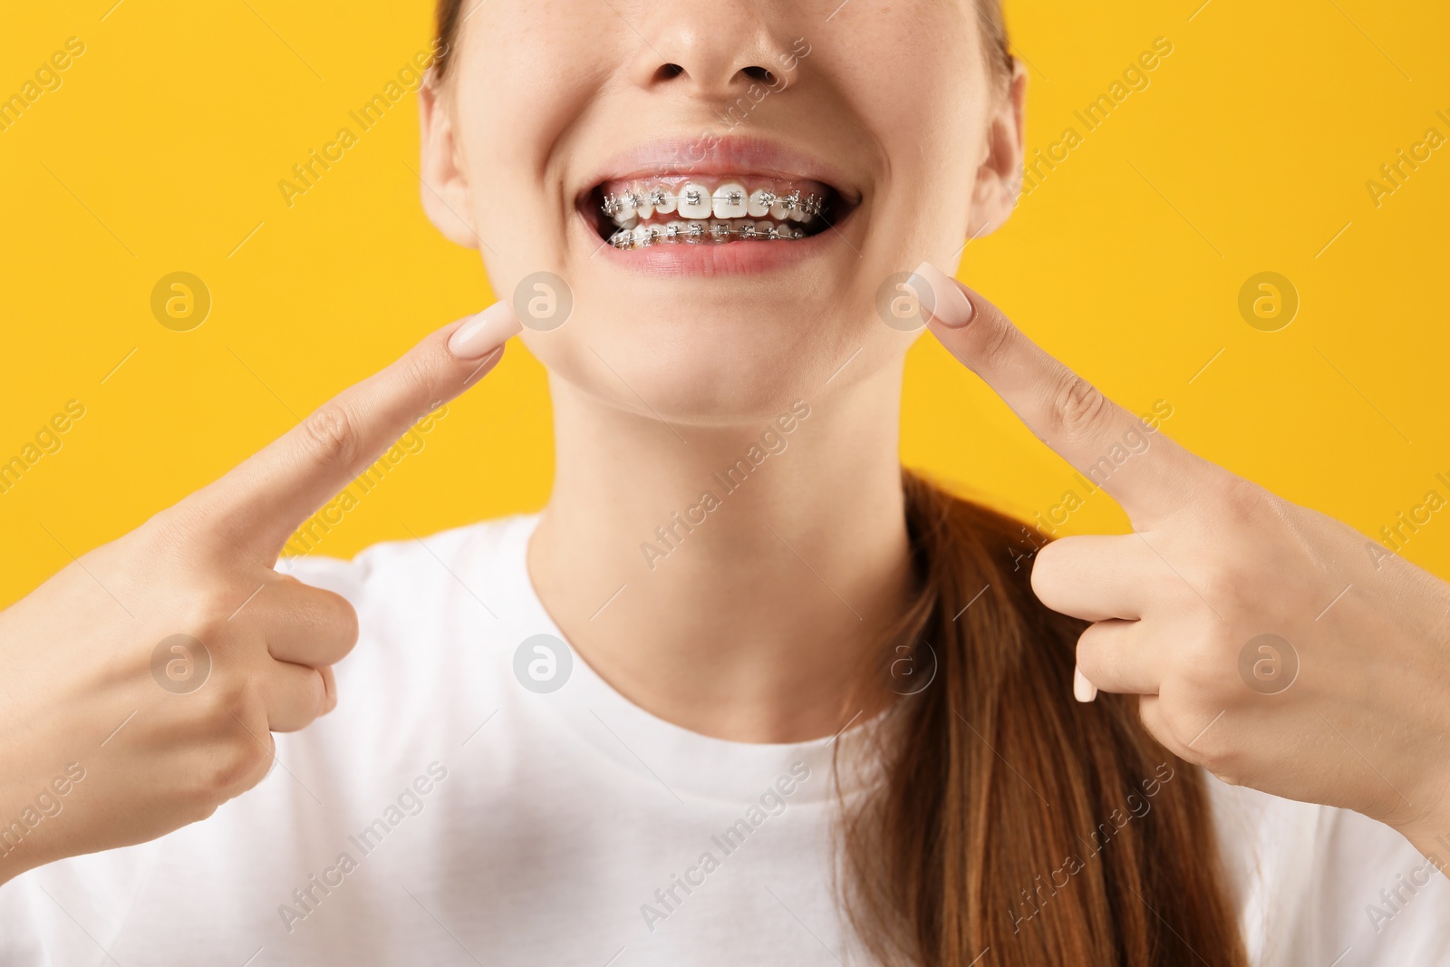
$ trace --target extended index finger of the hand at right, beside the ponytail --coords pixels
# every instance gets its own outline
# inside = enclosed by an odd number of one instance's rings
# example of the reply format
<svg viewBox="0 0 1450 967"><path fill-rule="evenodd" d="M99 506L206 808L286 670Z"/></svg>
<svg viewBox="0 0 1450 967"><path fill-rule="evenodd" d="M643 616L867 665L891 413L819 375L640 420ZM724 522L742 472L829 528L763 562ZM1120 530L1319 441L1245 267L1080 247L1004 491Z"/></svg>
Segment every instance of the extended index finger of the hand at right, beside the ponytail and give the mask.
<svg viewBox="0 0 1450 967"><path fill-rule="evenodd" d="M919 283L919 284L918 284ZM1135 522L1186 503L1211 464L1122 409L1054 360L986 299L929 262L914 275L931 291L928 328L990 386L1018 419Z"/></svg>

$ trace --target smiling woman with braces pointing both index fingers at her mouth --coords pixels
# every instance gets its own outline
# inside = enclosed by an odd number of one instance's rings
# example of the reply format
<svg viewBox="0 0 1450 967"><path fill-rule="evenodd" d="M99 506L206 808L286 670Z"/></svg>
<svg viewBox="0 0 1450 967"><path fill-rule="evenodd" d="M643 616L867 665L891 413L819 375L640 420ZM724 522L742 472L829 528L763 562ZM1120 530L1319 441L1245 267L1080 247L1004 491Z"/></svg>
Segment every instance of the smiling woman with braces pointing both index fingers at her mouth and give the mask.
<svg viewBox="0 0 1450 967"><path fill-rule="evenodd" d="M423 202L513 297L0 616L4 963L1450 958L1450 592L932 268L1024 78L848 10L444 0ZM928 320L1134 535L902 473ZM521 329L541 516L274 570Z"/></svg>

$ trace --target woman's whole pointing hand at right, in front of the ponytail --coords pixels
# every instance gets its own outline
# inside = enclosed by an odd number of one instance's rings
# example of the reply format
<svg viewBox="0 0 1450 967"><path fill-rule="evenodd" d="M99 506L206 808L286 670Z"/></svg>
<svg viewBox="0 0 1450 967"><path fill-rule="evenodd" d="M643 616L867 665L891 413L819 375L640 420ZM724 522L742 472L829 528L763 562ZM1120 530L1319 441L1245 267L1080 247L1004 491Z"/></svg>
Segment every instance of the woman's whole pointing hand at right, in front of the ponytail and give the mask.
<svg viewBox="0 0 1450 967"><path fill-rule="evenodd" d="M1037 552L1043 603L1093 622L1079 700L1138 694L1154 738L1228 783L1362 812L1422 852L1450 842L1450 584L1190 454L916 273L942 345L1132 523Z"/></svg>

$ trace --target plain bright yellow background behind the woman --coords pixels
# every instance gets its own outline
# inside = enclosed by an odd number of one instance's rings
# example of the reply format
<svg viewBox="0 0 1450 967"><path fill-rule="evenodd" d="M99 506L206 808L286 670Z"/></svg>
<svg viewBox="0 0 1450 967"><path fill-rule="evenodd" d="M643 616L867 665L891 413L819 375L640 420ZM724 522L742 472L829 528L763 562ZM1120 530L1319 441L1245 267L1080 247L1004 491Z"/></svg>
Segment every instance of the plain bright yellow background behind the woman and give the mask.
<svg viewBox="0 0 1450 967"><path fill-rule="evenodd" d="M426 48L431 3L12 3L0 29L0 96L67 38L87 48L0 132L0 461L67 400L86 406L0 496L0 603L492 302L476 255L420 212L412 99L290 210L277 188ZM1167 400L1180 442L1373 535L1427 490L1450 496L1436 480L1450 476L1450 146L1379 207L1366 190L1427 128L1450 136L1436 116L1450 116L1450 9L1199 4L1009 4L1030 154L1085 133L1073 110L1154 38L1173 54L1005 231L967 246L963 278L1130 409ZM853 29L850 13L813 42ZM215 300L191 332L151 315L173 271ZM1237 309L1260 271L1299 291L1279 332ZM908 464L1024 516L1074 486L931 339L905 403ZM544 373L515 345L318 549L538 509L551 471ZM1095 494L1064 532L1124 526ZM1450 574L1450 513L1405 554Z"/></svg>

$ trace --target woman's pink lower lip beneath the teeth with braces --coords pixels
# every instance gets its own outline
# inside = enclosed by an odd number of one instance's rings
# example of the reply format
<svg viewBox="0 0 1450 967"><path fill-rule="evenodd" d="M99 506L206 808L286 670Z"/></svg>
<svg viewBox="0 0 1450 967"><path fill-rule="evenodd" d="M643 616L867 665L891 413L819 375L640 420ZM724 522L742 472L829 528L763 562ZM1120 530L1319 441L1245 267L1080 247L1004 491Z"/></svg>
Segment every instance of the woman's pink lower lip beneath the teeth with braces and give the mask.
<svg viewBox="0 0 1450 967"><path fill-rule="evenodd" d="M832 246L850 251L845 238L826 228L824 232L790 241L773 242L660 242L644 248L615 248L599 238L587 219L581 231L605 251L597 258L641 275L754 275L790 268L809 258L825 255Z"/></svg>

